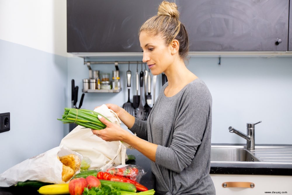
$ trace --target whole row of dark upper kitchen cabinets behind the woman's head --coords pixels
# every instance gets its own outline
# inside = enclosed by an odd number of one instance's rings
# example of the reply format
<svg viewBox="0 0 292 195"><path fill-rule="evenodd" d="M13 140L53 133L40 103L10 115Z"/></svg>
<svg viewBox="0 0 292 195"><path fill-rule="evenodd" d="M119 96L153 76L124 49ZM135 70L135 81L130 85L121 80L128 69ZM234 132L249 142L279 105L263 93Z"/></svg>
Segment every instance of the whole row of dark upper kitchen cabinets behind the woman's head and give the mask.
<svg viewBox="0 0 292 195"><path fill-rule="evenodd" d="M138 30L162 0L67 0L67 52L142 55ZM174 2L174 0L170 0ZM175 0L190 51L288 51L289 0ZM291 12L291 9L290 9ZM291 18L291 17L290 17Z"/></svg>

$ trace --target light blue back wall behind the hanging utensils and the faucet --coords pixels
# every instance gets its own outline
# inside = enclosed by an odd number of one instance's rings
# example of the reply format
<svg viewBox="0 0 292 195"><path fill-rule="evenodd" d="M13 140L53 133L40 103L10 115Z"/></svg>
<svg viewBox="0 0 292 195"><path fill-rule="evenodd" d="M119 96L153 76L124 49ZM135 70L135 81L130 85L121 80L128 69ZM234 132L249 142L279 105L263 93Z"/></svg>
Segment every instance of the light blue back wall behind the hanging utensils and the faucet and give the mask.
<svg viewBox="0 0 292 195"><path fill-rule="evenodd" d="M141 58L99 58L97 61L140 61ZM91 65L101 72L112 72L112 65ZM135 89L132 64L132 87ZM218 65L216 57L192 57L187 67L209 87L213 97L212 143L246 143L228 131L229 126L246 133L246 123L255 127L256 144L292 144L292 58L291 57L225 57ZM103 103L122 106L127 101L127 64L119 65L122 92L118 94L86 93L83 108L93 109ZM139 66L140 71L140 66ZM71 79L79 85L88 77L83 58L68 58L68 85ZM161 87L161 75L157 78ZM131 101L133 100L131 90ZM70 92L68 91L68 94ZM158 91L157 93L158 94ZM80 99L80 98L79 98ZM69 106L69 105L68 105Z"/></svg>

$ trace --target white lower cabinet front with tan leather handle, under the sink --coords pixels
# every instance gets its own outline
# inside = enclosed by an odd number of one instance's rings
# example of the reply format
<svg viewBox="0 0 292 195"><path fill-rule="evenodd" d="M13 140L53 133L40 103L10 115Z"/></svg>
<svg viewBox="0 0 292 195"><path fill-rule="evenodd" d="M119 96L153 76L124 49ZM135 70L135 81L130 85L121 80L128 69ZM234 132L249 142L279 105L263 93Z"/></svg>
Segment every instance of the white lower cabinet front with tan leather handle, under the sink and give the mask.
<svg viewBox="0 0 292 195"><path fill-rule="evenodd" d="M214 182L216 195L261 195L291 194L292 176L286 175L233 175L210 174ZM254 187L223 187L225 182L251 182ZM234 183L232 183L234 184ZM227 185L228 186L228 185Z"/></svg>

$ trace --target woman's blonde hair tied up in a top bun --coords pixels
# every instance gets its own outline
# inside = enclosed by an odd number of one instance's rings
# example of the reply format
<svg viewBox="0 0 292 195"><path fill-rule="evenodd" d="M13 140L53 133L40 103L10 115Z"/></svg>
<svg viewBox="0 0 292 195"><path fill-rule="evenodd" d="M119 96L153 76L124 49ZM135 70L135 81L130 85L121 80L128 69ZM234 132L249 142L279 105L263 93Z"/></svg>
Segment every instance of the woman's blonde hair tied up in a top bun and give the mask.
<svg viewBox="0 0 292 195"><path fill-rule="evenodd" d="M185 25L179 20L180 13L175 3L162 1L158 7L157 15L149 18L139 30L151 36L161 35L168 46L174 39L179 42L179 55L186 59L189 52L189 39Z"/></svg>

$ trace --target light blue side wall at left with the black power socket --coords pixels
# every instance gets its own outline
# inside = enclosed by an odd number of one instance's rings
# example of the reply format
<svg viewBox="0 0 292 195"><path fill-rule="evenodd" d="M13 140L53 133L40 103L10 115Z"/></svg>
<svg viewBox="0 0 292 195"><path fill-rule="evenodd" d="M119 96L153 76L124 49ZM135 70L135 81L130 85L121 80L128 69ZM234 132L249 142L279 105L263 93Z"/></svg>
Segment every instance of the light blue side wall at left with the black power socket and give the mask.
<svg viewBox="0 0 292 195"><path fill-rule="evenodd" d="M57 120L67 101L67 57L0 40L0 173L58 146L67 128Z"/></svg>

